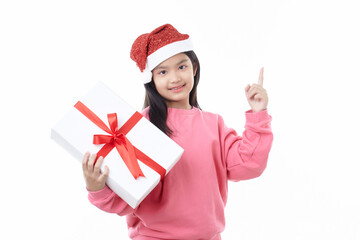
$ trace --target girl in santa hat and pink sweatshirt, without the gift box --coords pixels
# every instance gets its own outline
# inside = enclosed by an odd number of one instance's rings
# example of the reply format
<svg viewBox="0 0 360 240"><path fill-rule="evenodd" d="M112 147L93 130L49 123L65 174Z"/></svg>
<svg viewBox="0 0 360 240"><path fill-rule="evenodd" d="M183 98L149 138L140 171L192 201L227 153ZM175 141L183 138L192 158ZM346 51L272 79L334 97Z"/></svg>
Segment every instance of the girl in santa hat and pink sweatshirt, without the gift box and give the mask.
<svg viewBox="0 0 360 240"><path fill-rule="evenodd" d="M145 83L142 114L178 143L184 154L132 209L105 185L109 170L105 167L100 172L103 158L94 165L96 155L86 153L83 172L89 200L103 211L126 216L131 239L221 239L227 181L260 176L272 144L263 68L258 84L245 88L251 110L245 113L245 131L238 136L220 115L202 111L198 105L200 64L187 34L163 25L135 40L131 58Z"/></svg>

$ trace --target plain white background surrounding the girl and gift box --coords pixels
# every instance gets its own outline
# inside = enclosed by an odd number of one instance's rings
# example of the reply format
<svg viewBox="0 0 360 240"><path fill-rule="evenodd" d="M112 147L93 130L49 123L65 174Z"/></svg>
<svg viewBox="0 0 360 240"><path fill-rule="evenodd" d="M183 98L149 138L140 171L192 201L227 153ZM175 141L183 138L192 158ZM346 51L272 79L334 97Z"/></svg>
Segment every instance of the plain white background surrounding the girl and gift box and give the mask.
<svg viewBox="0 0 360 240"><path fill-rule="evenodd" d="M1 1L0 238L127 239L50 129L99 80L140 110L131 45L171 23L193 38L200 106L239 134L265 67L273 148L260 178L229 184L223 239L360 239L356 2Z"/></svg>

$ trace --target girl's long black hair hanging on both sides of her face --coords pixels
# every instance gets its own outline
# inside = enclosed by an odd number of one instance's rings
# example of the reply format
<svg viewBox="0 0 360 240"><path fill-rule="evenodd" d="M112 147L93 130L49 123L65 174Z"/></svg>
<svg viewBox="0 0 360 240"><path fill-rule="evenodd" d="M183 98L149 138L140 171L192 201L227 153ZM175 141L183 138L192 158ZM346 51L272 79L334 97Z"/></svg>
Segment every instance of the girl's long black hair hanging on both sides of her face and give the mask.
<svg viewBox="0 0 360 240"><path fill-rule="evenodd" d="M194 76L194 86L190 92L189 103L192 107L200 106L197 102L197 85L200 80L200 62L194 51L184 52L191 60L193 69L196 69L196 74ZM145 101L144 108L149 106L149 118L155 126L157 126L161 131L166 135L171 136L172 130L166 124L167 119L167 105L165 99L158 93L156 90L154 80L151 79L151 82L144 85L145 86Z"/></svg>

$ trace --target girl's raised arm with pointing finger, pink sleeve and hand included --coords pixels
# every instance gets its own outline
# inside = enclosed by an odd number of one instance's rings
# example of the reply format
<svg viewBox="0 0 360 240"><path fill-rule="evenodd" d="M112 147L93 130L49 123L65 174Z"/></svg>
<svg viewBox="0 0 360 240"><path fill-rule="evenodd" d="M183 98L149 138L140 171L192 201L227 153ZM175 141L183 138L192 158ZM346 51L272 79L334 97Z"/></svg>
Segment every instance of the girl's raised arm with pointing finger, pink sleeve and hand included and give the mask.
<svg viewBox="0 0 360 240"><path fill-rule="evenodd" d="M263 88L264 68L260 69L258 84L247 85L246 98L252 111L246 112L246 124L243 136L236 139L231 130L225 131L225 151L228 178L239 181L258 177L264 171L273 134L271 116L266 110L268 96Z"/></svg>

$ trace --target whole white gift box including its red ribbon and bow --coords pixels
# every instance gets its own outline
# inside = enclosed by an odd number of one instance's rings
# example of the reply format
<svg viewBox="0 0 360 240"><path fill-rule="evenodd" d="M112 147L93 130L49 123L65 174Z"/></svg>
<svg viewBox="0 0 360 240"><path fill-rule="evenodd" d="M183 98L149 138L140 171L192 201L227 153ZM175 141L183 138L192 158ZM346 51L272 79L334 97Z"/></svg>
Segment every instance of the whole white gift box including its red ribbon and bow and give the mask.
<svg viewBox="0 0 360 240"><path fill-rule="evenodd" d="M105 165L110 170L106 184L133 208L183 153L180 146L102 83L75 104L53 127L51 136L79 161L88 151L103 156L101 170Z"/></svg>

